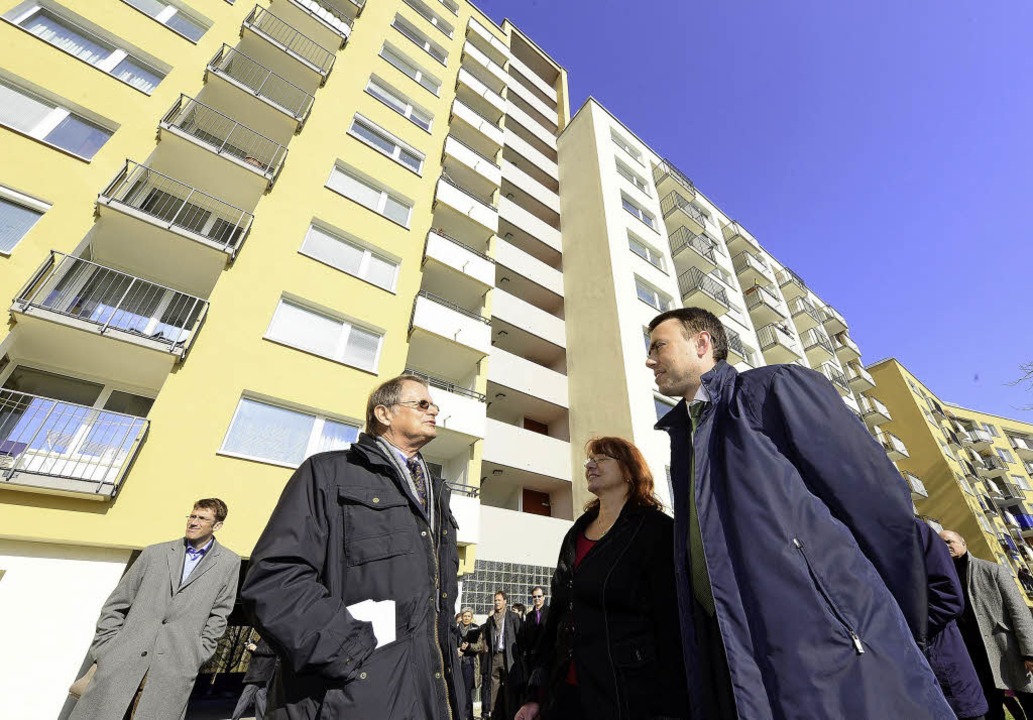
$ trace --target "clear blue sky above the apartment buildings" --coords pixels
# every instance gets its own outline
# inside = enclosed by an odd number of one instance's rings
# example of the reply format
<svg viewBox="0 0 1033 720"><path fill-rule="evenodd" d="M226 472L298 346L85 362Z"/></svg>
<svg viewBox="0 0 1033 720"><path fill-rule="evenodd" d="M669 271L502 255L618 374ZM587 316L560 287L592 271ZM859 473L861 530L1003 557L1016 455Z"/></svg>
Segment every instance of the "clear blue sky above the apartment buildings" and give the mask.
<svg viewBox="0 0 1033 720"><path fill-rule="evenodd" d="M1033 3L475 0L942 399L1033 421Z"/></svg>

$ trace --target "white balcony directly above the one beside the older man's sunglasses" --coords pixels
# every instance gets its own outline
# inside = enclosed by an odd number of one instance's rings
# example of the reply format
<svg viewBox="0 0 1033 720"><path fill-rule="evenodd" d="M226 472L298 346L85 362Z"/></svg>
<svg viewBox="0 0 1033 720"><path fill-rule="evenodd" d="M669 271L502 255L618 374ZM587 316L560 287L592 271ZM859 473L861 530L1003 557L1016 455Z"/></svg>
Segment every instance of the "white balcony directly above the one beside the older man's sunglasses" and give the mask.
<svg viewBox="0 0 1033 720"><path fill-rule="evenodd" d="M491 350L488 318L430 292L416 295L409 322L410 365L448 377L473 372Z"/></svg>

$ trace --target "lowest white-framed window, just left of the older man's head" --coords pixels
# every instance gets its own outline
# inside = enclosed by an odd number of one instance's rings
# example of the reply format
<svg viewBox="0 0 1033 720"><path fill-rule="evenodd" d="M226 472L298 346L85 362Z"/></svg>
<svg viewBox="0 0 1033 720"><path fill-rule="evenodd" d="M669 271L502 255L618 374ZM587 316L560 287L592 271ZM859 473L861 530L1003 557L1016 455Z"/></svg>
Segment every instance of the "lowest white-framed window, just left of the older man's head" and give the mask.
<svg viewBox="0 0 1033 720"><path fill-rule="evenodd" d="M310 412L241 398L222 452L296 467L311 455L348 447L358 427Z"/></svg>

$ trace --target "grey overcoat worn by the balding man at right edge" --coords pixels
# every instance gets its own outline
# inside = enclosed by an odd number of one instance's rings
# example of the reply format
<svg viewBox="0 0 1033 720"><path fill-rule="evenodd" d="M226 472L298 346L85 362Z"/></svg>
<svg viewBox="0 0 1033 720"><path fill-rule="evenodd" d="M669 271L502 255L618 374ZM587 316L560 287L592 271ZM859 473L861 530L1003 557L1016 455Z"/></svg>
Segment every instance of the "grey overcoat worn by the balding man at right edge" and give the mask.
<svg viewBox="0 0 1033 720"><path fill-rule="evenodd" d="M1033 657L1033 616L1011 574L969 553L964 583L997 687L1033 692L1033 680L1023 664L1023 656Z"/></svg>

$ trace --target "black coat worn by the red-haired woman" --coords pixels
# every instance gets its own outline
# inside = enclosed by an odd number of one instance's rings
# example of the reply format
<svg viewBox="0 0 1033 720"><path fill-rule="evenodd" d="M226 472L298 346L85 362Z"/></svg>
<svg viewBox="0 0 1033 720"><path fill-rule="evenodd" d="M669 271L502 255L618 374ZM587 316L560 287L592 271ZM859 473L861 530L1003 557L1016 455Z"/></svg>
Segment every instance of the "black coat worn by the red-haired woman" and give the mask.
<svg viewBox="0 0 1033 720"><path fill-rule="evenodd" d="M577 536L597 514L583 514L563 538L529 694L545 720L560 720L551 706L572 659L585 717L688 717L674 523L660 510L625 505L575 570Z"/></svg>

